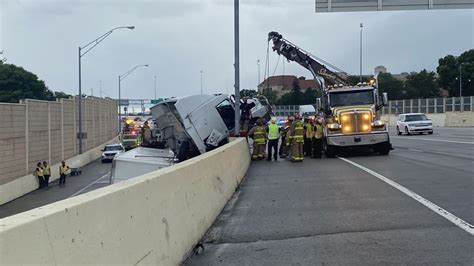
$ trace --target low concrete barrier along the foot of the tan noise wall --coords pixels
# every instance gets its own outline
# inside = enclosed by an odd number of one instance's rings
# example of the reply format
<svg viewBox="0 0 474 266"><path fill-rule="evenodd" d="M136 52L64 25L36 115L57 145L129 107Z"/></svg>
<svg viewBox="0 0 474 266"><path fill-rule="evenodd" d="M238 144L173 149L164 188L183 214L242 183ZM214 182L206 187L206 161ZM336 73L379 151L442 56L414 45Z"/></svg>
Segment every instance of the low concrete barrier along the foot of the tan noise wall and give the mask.
<svg viewBox="0 0 474 266"><path fill-rule="evenodd" d="M118 142L118 137L115 137L92 150L88 150L83 154L66 160L66 164L69 165L69 167L82 167L99 158L102 155L101 150L105 144L114 142ZM55 164L51 166L51 177L49 179L50 182L59 178L59 165L60 164ZM6 184L0 185L0 205L21 197L37 189L38 186L38 178L36 178L33 174L29 174Z"/></svg>

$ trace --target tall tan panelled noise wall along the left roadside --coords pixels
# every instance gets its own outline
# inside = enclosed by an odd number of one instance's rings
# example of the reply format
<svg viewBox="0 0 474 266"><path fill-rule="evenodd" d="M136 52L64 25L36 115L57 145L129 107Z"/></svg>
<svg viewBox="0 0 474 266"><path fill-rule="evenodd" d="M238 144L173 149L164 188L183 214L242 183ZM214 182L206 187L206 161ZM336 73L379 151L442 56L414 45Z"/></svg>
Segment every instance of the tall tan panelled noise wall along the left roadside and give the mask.
<svg viewBox="0 0 474 266"><path fill-rule="evenodd" d="M0 187L30 175L40 161L54 165L79 154L78 107L77 97L0 103ZM118 117L113 99L86 97L82 107L85 152L117 135Z"/></svg>

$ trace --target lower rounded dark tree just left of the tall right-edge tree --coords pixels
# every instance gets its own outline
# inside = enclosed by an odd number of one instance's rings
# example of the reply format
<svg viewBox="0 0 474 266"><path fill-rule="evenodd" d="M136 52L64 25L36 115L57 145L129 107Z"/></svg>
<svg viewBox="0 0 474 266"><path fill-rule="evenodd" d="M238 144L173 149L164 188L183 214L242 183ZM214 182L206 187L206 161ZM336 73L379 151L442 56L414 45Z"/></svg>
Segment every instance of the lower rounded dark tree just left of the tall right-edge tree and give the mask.
<svg viewBox="0 0 474 266"><path fill-rule="evenodd" d="M432 98L438 95L435 73L426 69L408 75L405 88L408 98Z"/></svg>

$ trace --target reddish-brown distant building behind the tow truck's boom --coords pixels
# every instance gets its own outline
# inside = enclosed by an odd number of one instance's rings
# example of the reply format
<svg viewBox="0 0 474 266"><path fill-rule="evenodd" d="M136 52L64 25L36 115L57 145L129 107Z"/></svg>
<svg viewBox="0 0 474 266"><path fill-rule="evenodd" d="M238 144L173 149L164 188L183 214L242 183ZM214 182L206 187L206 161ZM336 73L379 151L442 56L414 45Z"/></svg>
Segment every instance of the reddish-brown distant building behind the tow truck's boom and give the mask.
<svg viewBox="0 0 474 266"><path fill-rule="evenodd" d="M259 93L263 93L264 90L270 89L271 91L276 92L277 97L280 98L284 94L291 91L293 88L293 81L295 79L298 80L298 85L300 86L302 92L308 88L319 88L318 82L314 79L306 79L305 77L297 78L293 75L279 75L265 79L257 86L257 89Z"/></svg>

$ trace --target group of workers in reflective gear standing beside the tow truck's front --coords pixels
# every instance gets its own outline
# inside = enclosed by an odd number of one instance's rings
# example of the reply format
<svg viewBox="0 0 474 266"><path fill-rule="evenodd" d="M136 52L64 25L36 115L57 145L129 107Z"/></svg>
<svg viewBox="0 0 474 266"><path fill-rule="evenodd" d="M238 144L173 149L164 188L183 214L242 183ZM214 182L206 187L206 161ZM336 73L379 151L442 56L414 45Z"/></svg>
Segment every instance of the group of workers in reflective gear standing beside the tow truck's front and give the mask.
<svg viewBox="0 0 474 266"><path fill-rule="evenodd" d="M267 157L267 161L271 161L272 154L275 161L278 160L278 155L280 158L290 156L291 162L302 162L304 157L321 158L323 123L322 117L305 118L302 121L301 116L296 114L288 117L285 125L280 128L276 124L276 118L272 118L268 126L263 119L258 119L256 126L248 132L248 136L253 139L252 160ZM266 146L268 148L265 154Z"/></svg>

